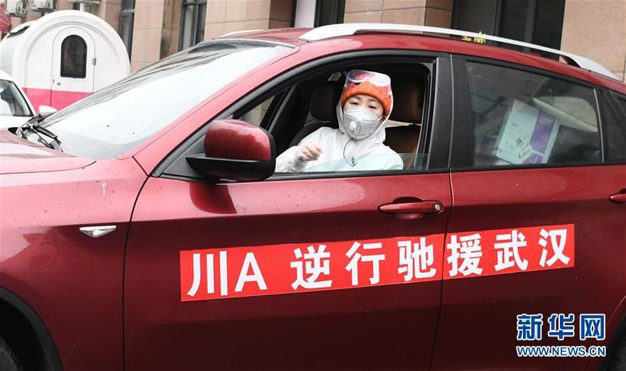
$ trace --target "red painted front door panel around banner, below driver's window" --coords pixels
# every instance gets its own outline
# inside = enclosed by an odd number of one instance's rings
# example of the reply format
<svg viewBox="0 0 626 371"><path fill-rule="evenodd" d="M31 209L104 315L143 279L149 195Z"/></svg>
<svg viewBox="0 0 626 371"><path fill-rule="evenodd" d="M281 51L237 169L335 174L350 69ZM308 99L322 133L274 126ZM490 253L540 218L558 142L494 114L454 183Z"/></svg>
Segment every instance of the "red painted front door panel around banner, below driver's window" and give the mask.
<svg viewBox="0 0 626 371"><path fill-rule="evenodd" d="M181 302L179 253L441 233L449 192L448 174L218 185L150 178L126 254L126 367L427 368L441 280ZM445 209L416 221L378 211L406 196Z"/></svg>

